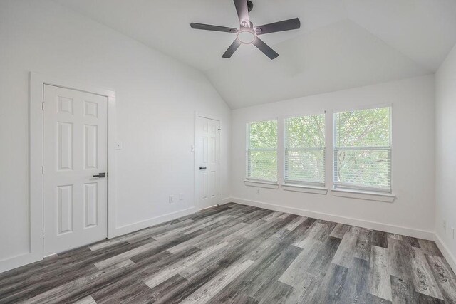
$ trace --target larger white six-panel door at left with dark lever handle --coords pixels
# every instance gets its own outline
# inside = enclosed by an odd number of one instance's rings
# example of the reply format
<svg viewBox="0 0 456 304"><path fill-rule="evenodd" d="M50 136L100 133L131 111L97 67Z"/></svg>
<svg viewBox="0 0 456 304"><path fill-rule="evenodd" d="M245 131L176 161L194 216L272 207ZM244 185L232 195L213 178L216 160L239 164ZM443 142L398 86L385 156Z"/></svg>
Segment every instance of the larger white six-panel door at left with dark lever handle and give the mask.
<svg viewBox="0 0 456 304"><path fill-rule="evenodd" d="M107 236L108 98L44 86L44 251Z"/></svg>

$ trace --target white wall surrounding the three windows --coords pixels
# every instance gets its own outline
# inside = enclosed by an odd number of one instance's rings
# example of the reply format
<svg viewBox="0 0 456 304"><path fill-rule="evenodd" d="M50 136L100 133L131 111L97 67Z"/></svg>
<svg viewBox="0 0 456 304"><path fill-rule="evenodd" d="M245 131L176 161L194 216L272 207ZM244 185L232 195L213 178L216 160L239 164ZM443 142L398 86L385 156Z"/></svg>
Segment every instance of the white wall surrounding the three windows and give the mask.
<svg viewBox="0 0 456 304"><path fill-rule="evenodd" d="M289 211L306 210L300 213L432 238L435 222L434 86L434 76L429 75L233 110L232 196L237 201L274 204L269 207ZM260 189L257 194L258 188L244 185L246 122L385 103L393 103L392 179L393 194L397 196L393 203L341 198L333 196L331 191L321 195ZM327 135L332 135L331 119L326 126ZM332 162L332 153L328 154ZM331 162L326 165L329 189L332 187Z"/></svg>

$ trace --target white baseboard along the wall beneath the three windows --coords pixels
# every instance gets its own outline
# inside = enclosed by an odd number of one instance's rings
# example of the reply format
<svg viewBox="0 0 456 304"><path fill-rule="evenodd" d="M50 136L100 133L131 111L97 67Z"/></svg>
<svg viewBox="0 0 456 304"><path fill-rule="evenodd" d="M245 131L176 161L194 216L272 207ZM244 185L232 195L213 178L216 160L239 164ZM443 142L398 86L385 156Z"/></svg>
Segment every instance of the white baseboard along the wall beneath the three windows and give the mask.
<svg viewBox="0 0 456 304"><path fill-rule="evenodd" d="M306 209L298 209L298 208L292 208L292 207L281 206L281 205L276 205L276 204L269 204L269 203L264 203L261 201L251 201L251 200L247 200L247 199L239 199L236 197L232 197L231 201L234 203L237 203L237 204L261 207L264 209L287 212L287 213L297 214L297 215L301 215L301 216L309 216L309 217L313 217L314 219L323 219L325 221L334 221L336 223L341 223L341 224L347 224L347 225L359 226L359 227L363 227L363 228L367 228L367 229L385 231L385 232L389 232L391 234L402 234L404 236L413 236L413 237L419 238L419 239L434 240L434 235L435 235L434 232L432 232L432 231L425 231L425 230L412 229L412 228L403 227L403 226L383 224L383 223L378 223L375 221L365 221L363 219L353 219L353 218L349 218L349 217L345 217L345 216L338 216L335 214L326 214L326 213L310 211L310 210L306 210Z"/></svg>

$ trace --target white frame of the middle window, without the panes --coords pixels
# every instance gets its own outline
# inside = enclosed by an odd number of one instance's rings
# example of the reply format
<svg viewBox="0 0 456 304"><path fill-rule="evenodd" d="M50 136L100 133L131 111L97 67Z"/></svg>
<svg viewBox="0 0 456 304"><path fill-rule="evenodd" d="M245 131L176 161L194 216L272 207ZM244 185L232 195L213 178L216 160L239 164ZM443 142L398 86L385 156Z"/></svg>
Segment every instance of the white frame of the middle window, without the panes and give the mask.
<svg viewBox="0 0 456 304"><path fill-rule="evenodd" d="M306 116L315 116L315 115L323 115L325 123L324 123L324 136L325 136L325 145L323 147L316 147L316 148L287 148L286 144L288 142L288 127L286 124L286 121L292 118L296 117L306 117ZM294 115L294 116L289 116L289 117L284 117L283 120L284 124L284 157L283 157L283 162L284 162L284 172L283 172L283 177L284 177L284 185L289 186L289 185L301 185L301 186L308 186L308 187L318 187L318 188L324 188L326 187L326 111L324 112L317 112L313 114L303 114L303 115ZM306 182L306 181L296 181L293 179L286 179L286 167L287 167L287 162L286 162L286 155L288 151L323 151L323 182Z"/></svg>

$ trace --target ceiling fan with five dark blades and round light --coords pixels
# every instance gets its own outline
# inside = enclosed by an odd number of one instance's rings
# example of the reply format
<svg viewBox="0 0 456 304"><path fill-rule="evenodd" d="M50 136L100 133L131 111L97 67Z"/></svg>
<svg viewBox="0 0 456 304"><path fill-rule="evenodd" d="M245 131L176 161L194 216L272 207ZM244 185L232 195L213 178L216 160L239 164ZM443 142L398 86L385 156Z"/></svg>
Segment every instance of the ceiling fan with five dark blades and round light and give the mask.
<svg viewBox="0 0 456 304"><path fill-rule="evenodd" d="M265 33L294 30L301 27L301 21L299 21L298 18L264 24L263 26L254 26L249 19L249 12L252 11L252 8L254 7L252 1L234 0L234 6L236 6L237 16L239 17L239 30L237 28L228 28L225 26L190 23L190 26L195 29L222 31L226 33L235 33L237 35L234 42L222 55L223 58L230 58L241 44L251 43L270 59L277 58L279 54L264 43L258 36L264 35Z"/></svg>

